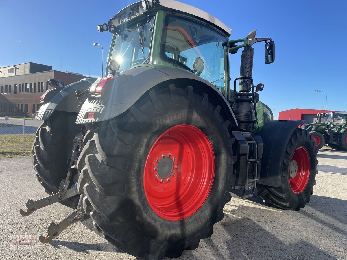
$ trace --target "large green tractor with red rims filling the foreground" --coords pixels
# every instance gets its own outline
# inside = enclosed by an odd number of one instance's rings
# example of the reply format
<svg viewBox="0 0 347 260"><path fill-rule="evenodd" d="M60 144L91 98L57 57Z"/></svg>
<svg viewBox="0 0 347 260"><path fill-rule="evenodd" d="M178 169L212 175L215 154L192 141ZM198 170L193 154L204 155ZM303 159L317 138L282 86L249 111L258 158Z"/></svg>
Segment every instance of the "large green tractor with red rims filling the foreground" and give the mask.
<svg viewBox="0 0 347 260"><path fill-rule="evenodd" d="M104 78L46 92L33 145L37 179L74 210L47 226L43 243L89 215L109 242L138 259L178 258L210 237L230 190L257 189L265 203L305 207L317 173L303 121L273 121L253 85L253 44L208 13L172 0L144 0L98 31L113 34ZM240 77L230 54L243 48ZM238 91L236 83L238 81ZM77 98L76 98L77 97ZM67 162L67 163L66 163Z"/></svg>

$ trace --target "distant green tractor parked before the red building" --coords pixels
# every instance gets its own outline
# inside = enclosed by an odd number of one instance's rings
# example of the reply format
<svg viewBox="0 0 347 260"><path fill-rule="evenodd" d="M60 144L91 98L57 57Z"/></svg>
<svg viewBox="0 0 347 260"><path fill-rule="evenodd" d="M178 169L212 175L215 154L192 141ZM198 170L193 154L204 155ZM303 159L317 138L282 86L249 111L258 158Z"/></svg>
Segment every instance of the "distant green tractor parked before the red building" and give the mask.
<svg viewBox="0 0 347 260"><path fill-rule="evenodd" d="M316 149L324 144L347 151L347 112L318 113L314 123L303 124L315 140Z"/></svg>

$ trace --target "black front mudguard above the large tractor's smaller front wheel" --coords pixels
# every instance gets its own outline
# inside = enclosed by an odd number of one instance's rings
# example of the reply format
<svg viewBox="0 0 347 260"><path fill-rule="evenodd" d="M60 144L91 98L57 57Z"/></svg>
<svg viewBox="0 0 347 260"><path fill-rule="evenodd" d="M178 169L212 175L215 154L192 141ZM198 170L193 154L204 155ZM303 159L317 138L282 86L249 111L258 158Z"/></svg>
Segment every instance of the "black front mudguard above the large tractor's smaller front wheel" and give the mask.
<svg viewBox="0 0 347 260"><path fill-rule="evenodd" d="M261 129L259 135L263 139L264 149L259 184L279 187L281 158L285 153L284 147L287 147L294 130L304 122L299 120L274 120L266 123ZM282 151L282 153L279 151Z"/></svg>

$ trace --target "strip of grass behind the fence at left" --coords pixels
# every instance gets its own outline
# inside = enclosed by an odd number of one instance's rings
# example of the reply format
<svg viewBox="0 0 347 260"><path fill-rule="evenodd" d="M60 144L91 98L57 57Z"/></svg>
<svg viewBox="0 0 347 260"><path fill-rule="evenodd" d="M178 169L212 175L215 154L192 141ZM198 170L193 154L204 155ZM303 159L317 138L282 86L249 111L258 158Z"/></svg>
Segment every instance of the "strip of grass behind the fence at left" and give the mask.
<svg viewBox="0 0 347 260"><path fill-rule="evenodd" d="M35 135L24 136L23 153L23 135L1 135L0 136L0 158L9 157L31 157L32 146Z"/></svg>

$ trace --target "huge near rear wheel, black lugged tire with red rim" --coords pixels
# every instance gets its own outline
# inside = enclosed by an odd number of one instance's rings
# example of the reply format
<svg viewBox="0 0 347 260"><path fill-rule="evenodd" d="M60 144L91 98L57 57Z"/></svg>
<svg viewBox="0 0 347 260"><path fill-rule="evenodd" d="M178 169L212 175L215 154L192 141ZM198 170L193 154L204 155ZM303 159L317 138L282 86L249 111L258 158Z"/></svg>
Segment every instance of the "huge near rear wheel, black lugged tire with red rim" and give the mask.
<svg viewBox="0 0 347 260"><path fill-rule="evenodd" d="M211 236L235 179L223 115L207 94L170 85L99 123L78 162L96 229L141 259L177 258Z"/></svg>

